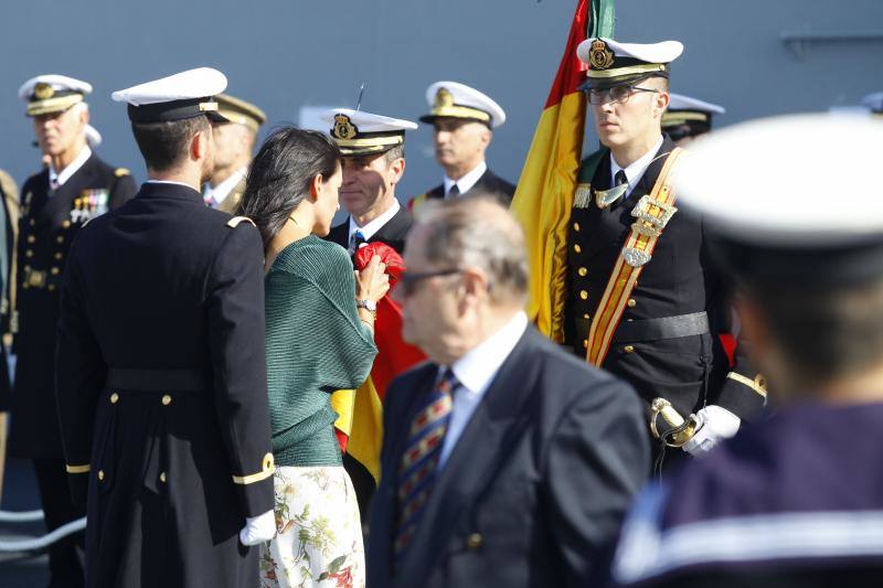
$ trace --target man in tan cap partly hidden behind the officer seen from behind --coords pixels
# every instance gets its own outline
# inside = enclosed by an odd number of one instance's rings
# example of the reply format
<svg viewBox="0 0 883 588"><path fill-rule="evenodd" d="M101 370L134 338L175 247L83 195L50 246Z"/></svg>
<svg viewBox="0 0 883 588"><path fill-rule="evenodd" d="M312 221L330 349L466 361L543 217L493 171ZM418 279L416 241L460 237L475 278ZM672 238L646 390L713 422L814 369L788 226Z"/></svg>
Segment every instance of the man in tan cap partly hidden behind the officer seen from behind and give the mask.
<svg viewBox="0 0 883 588"><path fill-rule="evenodd" d="M214 170L202 193L205 204L233 214L245 192L257 132L267 116L257 106L228 94L215 96L227 122L214 124Z"/></svg>

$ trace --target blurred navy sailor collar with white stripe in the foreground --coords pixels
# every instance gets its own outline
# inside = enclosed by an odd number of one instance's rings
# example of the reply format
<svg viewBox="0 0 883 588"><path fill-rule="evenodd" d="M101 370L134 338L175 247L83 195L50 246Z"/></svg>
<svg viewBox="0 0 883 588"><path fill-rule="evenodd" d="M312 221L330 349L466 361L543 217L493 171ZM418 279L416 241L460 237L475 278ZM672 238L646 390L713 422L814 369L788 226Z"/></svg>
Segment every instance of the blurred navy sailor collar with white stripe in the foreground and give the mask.
<svg viewBox="0 0 883 588"><path fill-rule="evenodd" d="M883 585L883 404L807 404L747 425L649 488L624 527L623 585Z"/></svg>

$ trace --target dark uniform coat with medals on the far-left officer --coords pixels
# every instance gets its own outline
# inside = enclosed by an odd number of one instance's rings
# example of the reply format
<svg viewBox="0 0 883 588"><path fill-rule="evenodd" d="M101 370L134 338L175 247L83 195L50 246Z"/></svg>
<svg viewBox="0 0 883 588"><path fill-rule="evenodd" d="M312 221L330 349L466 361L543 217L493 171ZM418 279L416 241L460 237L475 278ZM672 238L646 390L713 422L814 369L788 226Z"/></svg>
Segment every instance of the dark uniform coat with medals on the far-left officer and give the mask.
<svg viewBox="0 0 883 588"><path fill-rule="evenodd" d="M52 192L49 170L21 189L17 302L12 313L18 355L12 395L13 455L61 459L55 415L55 329L58 295L71 244L81 227L130 199L137 188L128 170L111 168L93 154Z"/></svg>

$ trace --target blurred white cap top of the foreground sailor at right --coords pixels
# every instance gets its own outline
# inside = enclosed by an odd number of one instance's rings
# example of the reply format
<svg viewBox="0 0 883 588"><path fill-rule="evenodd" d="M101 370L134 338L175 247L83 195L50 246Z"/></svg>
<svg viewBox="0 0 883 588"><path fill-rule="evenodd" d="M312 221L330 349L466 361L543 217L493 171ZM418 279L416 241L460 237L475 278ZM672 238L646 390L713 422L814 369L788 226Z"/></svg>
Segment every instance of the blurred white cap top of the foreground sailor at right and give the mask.
<svg viewBox="0 0 883 588"><path fill-rule="evenodd" d="M849 140L850 149L831 149ZM880 165L883 121L794 115L744 122L696 139L675 175L678 206L744 243L848 245L883 237L883 184L854 190L844 206L828 173ZM751 182L738 179L746 170Z"/></svg>

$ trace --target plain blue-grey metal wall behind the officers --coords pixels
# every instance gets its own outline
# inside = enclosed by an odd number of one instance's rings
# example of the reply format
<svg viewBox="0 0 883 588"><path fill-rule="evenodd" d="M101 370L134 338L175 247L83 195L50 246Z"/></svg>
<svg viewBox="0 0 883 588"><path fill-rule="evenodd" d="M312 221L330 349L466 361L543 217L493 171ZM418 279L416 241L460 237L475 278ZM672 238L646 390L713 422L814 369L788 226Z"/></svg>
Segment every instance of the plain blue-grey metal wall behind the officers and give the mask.
<svg viewBox="0 0 883 588"><path fill-rule="evenodd" d="M575 0L6 0L0 9L0 167L21 183L38 169L15 90L39 73L89 81L99 153L145 178L125 108L109 94L210 65L272 124L305 105L352 105L416 119L425 87L456 79L509 115L490 149L515 181L557 66ZM678 39L673 89L723 104L721 124L857 103L883 89L880 0L620 0L623 41ZM784 33L860 39L792 50ZM400 197L438 183L432 132L408 135Z"/></svg>

